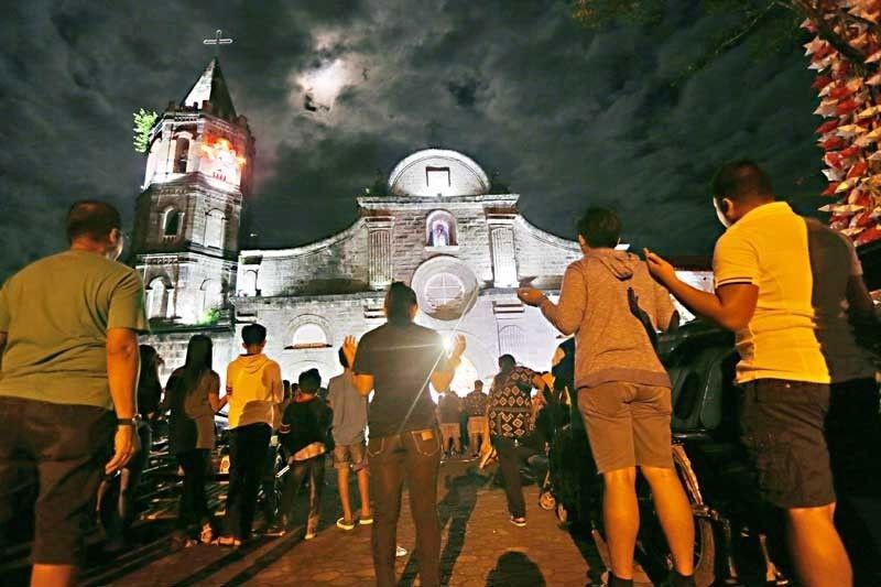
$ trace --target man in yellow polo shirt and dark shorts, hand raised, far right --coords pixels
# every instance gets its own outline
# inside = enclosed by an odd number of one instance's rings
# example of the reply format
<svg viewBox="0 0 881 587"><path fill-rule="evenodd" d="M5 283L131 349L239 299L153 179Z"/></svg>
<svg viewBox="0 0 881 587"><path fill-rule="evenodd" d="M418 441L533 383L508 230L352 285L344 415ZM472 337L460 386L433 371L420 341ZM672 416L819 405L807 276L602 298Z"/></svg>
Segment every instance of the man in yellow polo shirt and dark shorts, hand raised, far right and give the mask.
<svg viewBox="0 0 881 587"><path fill-rule="evenodd" d="M733 330L741 360L742 439L764 498L786 510L795 570L806 586L852 584L835 524L827 447L830 394L862 388L872 373L850 319L873 319L850 242L786 203L751 161L725 165L713 182L717 215L728 228L716 243L715 293L676 278L645 251L652 274L695 314ZM831 389L830 389L831 388ZM875 398L878 388L866 389Z"/></svg>

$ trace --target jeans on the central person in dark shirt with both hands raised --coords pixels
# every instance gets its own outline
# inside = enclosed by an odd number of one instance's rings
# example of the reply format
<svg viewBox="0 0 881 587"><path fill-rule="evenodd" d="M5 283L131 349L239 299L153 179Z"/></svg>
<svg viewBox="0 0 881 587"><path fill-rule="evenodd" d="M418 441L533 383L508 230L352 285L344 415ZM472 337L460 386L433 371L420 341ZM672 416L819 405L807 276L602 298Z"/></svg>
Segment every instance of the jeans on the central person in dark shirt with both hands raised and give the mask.
<svg viewBox="0 0 881 587"><path fill-rule="evenodd" d="M440 434L436 428L370 438L367 446L373 493L373 568L377 585L396 585L394 553L404 477L416 525L416 552L423 587L440 584L440 522L437 518L437 471Z"/></svg>

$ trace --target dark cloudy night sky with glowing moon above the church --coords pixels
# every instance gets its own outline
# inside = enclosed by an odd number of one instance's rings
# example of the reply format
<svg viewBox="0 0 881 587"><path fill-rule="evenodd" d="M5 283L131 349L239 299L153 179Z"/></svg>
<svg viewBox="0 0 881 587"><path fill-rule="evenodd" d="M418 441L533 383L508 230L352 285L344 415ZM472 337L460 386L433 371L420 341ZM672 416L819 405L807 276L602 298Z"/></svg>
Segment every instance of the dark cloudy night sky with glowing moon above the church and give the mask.
<svg viewBox="0 0 881 587"><path fill-rule="evenodd" d="M747 43L683 77L730 17L670 4L657 25L595 32L539 0L7 2L0 280L65 246L75 199L111 200L131 222L145 163L132 112L180 101L218 28L235 39L221 67L257 137L264 248L348 227L377 170L426 146L498 171L543 229L573 238L579 211L612 206L628 241L666 254L711 252L707 183L726 160L757 159L781 195L815 208L820 120L802 47Z"/></svg>

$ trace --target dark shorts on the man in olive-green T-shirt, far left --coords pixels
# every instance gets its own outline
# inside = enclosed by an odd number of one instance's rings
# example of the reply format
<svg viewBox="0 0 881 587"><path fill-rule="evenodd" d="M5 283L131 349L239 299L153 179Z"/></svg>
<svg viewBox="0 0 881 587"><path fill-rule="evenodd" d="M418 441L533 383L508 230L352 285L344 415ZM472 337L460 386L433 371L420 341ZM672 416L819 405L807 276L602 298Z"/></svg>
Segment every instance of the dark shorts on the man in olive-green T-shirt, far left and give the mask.
<svg viewBox="0 0 881 587"><path fill-rule="evenodd" d="M81 564L85 530L104 466L112 450L116 418L102 407L0 396L0 526L21 508L36 477L34 564Z"/></svg>

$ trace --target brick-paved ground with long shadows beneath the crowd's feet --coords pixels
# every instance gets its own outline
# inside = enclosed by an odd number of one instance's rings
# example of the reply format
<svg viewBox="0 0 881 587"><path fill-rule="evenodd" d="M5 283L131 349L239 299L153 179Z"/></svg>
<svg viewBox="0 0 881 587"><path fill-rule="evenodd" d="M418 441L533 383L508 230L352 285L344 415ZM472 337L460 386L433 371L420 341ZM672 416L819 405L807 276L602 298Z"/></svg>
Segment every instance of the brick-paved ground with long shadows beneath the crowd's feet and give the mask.
<svg viewBox="0 0 881 587"><path fill-rule="evenodd" d="M281 539L262 537L241 552L218 546L196 546L167 552L162 537L129 553L105 573L89 573L89 585L370 585L370 529L351 533L338 530L336 479L326 478L322 528L309 542L302 528ZM450 461L442 466L443 524L442 575L456 586L580 586L599 585L605 568L592 541L574 537L561 529L552 512L537 506L537 489L526 488L526 528L508 521L504 493L474 463ZM357 494L357 491L356 493ZM298 511L304 512L304 503ZM413 548L414 528L404 499L399 543ZM131 572L126 572L126 565ZM120 573L122 570L122 573ZM398 563L401 585L418 585L415 561ZM650 585L643 583L643 585Z"/></svg>

